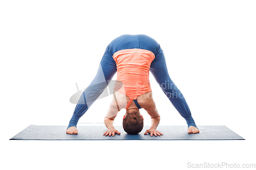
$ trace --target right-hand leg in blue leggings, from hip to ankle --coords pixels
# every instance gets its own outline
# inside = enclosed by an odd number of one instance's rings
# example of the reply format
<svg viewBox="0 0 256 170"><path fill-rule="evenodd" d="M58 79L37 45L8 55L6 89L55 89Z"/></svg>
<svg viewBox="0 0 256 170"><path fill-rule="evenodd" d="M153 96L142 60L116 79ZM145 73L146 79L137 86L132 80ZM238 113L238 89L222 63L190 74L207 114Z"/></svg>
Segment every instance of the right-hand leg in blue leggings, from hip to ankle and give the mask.
<svg viewBox="0 0 256 170"><path fill-rule="evenodd" d="M181 116L185 118L188 128L189 126L197 128L184 96L169 77L165 57L161 47L159 47L159 51L151 63L150 70L169 101L174 105Z"/></svg>

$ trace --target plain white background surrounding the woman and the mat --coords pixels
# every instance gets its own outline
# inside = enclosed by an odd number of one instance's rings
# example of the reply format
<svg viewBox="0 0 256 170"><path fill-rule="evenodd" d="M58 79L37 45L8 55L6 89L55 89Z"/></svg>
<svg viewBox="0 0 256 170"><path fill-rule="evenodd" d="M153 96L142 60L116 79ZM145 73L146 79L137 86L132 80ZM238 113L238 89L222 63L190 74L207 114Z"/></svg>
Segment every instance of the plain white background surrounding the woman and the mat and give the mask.
<svg viewBox="0 0 256 170"><path fill-rule="evenodd" d="M255 1L1 1L0 166L186 169L188 162L256 163L255 8ZM89 85L105 47L123 34L145 34L160 43L169 75L198 126L225 125L246 140L9 140L29 125L68 126L75 83L80 89ZM160 125L186 125L150 79ZM111 99L97 100L78 125L103 123ZM146 112L141 114L150 125Z"/></svg>

